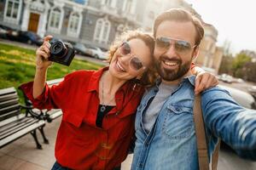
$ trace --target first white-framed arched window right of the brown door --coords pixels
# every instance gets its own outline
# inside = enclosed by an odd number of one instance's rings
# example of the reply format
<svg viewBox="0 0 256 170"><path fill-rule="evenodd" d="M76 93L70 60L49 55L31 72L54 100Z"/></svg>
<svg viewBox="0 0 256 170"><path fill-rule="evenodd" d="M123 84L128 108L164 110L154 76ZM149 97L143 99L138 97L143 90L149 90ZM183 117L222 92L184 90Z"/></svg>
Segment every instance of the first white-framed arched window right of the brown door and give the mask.
<svg viewBox="0 0 256 170"><path fill-rule="evenodd" d="M55 7L51 9L49 13L49 31L60 33L63 14L62 8Z"/></svg>

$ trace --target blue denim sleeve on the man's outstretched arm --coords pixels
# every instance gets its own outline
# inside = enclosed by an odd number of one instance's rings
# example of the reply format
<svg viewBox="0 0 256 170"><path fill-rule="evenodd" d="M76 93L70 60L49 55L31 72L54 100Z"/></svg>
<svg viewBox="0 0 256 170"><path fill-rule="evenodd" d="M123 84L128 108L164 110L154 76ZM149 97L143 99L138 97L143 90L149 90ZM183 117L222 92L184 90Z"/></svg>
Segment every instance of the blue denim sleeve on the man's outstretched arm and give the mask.
<svg viewBox="0 0 256 170"><path fill-rule="evenodd" d="M209 88L201 94L201 109L213 136L229 144L239 156L256 160L256 110L238 105L221 88Z"/></svg>

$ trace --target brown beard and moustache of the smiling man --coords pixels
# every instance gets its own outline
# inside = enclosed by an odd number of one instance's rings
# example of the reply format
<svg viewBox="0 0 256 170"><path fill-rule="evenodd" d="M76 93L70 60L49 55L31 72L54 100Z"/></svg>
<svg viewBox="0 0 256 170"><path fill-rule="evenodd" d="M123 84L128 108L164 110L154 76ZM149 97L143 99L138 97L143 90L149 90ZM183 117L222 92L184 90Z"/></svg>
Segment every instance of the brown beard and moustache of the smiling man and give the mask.
<svg viewBox="0 0 256 170"><path fill-rule="evenodd" d="M167 70L161 66L161 62L164 60L164 56L160 56L160 59L154 59L156 63L156 70L160 77L165 81L175 81L183 77L190 69L192 59L188 62L183 63L181 59L168 59L177 62L177 69Z"/></svg>

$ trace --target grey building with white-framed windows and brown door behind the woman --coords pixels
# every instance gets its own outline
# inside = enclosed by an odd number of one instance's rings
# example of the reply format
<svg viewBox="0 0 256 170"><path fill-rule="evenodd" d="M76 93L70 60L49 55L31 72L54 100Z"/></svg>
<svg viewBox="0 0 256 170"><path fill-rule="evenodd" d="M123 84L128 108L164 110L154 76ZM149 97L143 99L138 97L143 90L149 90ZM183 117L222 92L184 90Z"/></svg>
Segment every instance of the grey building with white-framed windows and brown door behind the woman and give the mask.
<svg viewBox="0 0 256 170"><path fill-rule="evenodd" d="M1 25L108 48L116 35L137 28L138 0L3 0Z"/></svg>

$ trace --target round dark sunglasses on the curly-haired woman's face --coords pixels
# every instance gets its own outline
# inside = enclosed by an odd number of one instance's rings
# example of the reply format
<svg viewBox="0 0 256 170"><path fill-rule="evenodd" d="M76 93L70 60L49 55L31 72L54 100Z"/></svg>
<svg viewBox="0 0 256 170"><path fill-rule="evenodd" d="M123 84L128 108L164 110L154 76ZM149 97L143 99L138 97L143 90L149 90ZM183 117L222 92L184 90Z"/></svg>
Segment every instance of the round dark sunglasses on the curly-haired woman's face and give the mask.
<svg viewBox="0 0 256 170"><path fill-rule="evenodd" d="M123 42L120 48L120 54L131 55L131 47L128 42ZM134 71L139 71L140 69L146 69L146 66L143 66L142 61L137 58L136 55L133 55L129 61L129 67Z"/></svg>

